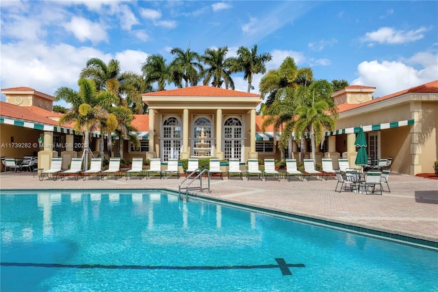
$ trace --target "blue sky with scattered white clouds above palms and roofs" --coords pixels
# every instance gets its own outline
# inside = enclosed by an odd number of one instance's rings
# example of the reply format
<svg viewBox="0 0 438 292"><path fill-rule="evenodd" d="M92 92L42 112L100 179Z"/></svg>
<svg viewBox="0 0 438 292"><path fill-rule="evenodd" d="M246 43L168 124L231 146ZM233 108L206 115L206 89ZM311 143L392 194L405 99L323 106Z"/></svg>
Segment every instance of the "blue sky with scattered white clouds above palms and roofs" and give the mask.
<svg viewBox="0 0 438 292"><path fill-rule="evenodd" d="M315 79L375 86L375 97L438 79L438 1L3 1L1 88L77 89L90 58L141 73L150 54L227 46L291 56ZM254 77L259 92L261 75ZM236 90L246 91L242 75ZM166 86L166 88L174 88ZM2 97L4 100L4 97Z"/></svg>

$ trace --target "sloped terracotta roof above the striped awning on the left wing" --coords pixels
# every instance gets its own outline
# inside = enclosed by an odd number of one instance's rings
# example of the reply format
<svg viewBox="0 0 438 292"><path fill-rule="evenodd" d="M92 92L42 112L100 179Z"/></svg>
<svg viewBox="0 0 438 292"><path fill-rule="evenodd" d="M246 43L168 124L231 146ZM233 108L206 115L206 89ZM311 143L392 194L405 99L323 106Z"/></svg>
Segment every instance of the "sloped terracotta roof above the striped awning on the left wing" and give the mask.
<svg viewBox="0 0 438 292"><path fill-rule="evenodd" d="M57 125L57 121L49 119L47 116L42 114L42 112L45 112L45 114L49 114L51 112L48 110L35 109L35 106L16 106L14 104L7 104L3 101L0 101L0 115L3 117L22 119L25 121L44 123L48 125Z"/></svg>

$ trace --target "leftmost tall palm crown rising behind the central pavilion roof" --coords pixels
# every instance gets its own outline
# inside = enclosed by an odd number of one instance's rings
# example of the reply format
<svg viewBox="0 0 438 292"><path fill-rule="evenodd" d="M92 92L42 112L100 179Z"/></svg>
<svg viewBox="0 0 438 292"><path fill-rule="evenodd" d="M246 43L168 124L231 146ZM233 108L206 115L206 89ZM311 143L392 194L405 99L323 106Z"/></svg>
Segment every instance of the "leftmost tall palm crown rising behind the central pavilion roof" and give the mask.
<svg viewBox="0 0 438 292"><path fill-rule="evenodd" d="M150 55L143 63L142 72L145 84L157 82L157 90L164 90L166 82L172 80L170 68L166 65L166 59L162 55Z"/></svg>

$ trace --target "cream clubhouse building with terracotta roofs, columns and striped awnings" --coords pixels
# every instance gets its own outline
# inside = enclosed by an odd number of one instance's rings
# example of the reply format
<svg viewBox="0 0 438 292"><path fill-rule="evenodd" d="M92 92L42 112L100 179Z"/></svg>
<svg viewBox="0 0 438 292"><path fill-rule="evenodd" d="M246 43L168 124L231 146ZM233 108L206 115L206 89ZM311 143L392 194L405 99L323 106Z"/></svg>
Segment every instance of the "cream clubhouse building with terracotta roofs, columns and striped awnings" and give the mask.
<svg viewBox="0 0 438 292"><path fill-rule="evenodd" d="M339 109L336 130L326 132L316 162L323 157L348 158L355 167L356 134L362 126L372 160L392 158L391 170L415 175L433 173L438 160L438 80L373 98L376 88L348 86L333 93ZM6 101L0 102L0 156L38 156L38 167L49 169L51 158L62 157L67 169L71 158L81 157L83 132L73 125L58 125L61 114L53 112L54 97L33 88L1 89ZM133 126L140 147L123 143L123 158L296 158L293 138L281 151L276 144L281 133L272 128L261 131L263 116L257 115L260 95L211 86L192 86L142 94L147 114L136 114ZM92 133L90 150L99 153L99 133ZM106 143L105 143L106 144ZM308 143L310 145L310 143ZM307 147L310 151L310 147ZM306 152L306 157L311 156Z"/></svg>

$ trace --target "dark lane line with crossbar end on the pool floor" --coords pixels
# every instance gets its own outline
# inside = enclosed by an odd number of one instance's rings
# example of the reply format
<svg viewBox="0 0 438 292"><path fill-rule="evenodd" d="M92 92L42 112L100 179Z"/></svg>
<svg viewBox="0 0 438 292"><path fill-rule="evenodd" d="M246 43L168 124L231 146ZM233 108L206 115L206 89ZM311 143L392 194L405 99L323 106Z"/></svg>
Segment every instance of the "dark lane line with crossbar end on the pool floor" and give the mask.
<svg viewBox="0 0 438 292"><path fill-rule="evenodd" d="M179 270L215 270L215 269L277 269L283 276L292 275L289 267L305 267L304 264L288 264L284 258L275 259L278 265L229 265L229 266L142 266L142 265L93 265L93 264L49 264L49 263L0 263L3 267L45 267L70 269L179 269Z"/></svg>

